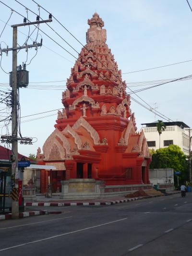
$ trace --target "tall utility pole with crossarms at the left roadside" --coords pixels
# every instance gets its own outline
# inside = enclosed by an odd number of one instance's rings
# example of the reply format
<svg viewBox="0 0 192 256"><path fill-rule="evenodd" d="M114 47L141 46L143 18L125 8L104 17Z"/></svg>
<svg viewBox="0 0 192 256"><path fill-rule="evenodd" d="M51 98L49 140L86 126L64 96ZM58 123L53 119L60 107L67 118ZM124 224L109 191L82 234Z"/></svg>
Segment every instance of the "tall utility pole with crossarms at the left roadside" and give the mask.
<svg viewBox="0 0 192 256"><path fill-rule="evenodd" d="M17 27L18 26L29 26L41 23L52 22L52 16L49 14L48 20L39 21L39 16L36 17L36 22L26 22L26 18L24 18L24 23L12 25L13 28L13 37L12 37L12 48L0 49L0 54L2 52L8 53L8 51L12 50L12 79L10 86L12 87L12 136L1 136L7 142L12 143L12 219L19 218L19 202L18 202L18 140L23 141L24 138L17 137L17 129L18 129L18 112L17 112L17 92L19 86L17 81L17 50L18 49L27 49L32 47L42 46L41 43L34 42L33 45L25 45L21 47L17 47ZM1 140L2 141L2 140ZM25 138L26 143L31 143L30 138Z"/></svg>

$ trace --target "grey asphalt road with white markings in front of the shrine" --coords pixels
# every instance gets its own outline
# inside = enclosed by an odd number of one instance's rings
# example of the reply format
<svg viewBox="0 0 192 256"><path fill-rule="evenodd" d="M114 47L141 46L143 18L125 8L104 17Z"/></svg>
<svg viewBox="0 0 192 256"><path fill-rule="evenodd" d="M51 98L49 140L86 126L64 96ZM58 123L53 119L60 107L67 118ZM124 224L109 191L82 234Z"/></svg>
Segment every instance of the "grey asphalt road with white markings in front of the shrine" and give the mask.
<svg viewBox="0 0 192 256"><path fill-rule="evenodd" d="M43 207L35 207L43 209ZM192 194L0 221L0 256L192 255Z"/></svg>

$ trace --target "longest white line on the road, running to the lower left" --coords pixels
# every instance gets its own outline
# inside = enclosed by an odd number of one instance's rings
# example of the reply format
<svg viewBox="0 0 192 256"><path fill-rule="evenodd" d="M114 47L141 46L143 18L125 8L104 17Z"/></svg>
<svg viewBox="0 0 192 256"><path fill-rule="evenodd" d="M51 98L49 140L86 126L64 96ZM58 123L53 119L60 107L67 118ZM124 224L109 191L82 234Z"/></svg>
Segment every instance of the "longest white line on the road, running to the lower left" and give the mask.
<svg viewBox="0 0 192 256"><path fill-rule="evenodd" d="M53 239L53 238L56 238L56 237L60 237L60 236L64 236L64 235L69 235L69 234L73 234L73 233L77 233L77 232L81 232L81 231L84 231L84 230L94 229L94 228L105 226L105 225L108 225L108 224L111 224L111 223L119 222L119 221L122 221L122 220L125 220L125 219L128 219L128 218L118 219L118 220L106 222L106 223L103 223L103 224L99 224L99 225L96 225L96 226L92 226L92 227L88 227L88 228L84 228L84 229L80 229L80 230L76 230L76 231L72 231L72 232L67 232L67 233L63 233L63 234L59 234L59 235L49 236L47 238L35 240L35 241L24 243L24 244L18 244L18 245L7 247L7 248L2 248L2 249L0 249L0 252L6 251L6 250L9 250L9 249L12 249L12 248L21 247L21 246L24 246L24 245L27 245L27 244L35 244L35 243L38 243L38 242L41 242L41 241L50 240L50 239Z"/></svg>

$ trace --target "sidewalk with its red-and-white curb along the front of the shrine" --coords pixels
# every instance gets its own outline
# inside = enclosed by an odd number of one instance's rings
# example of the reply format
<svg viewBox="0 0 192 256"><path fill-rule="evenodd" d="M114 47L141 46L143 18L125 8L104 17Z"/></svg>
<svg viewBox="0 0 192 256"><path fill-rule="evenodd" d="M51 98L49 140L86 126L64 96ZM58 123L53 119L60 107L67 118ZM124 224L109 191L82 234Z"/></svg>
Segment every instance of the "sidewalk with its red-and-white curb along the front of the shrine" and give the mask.
<svg viewBox="0 0 192 256"><path fill-rule="evenodd" d="M167 195L179 194L180 191L168 192ZM126 198L125 196L116 196L108 198L98 198L98 199L84 199L84 200L63 200L58 195L53 195L51 198L46 198L42 195L38 195L35 202L25 202L24 206L54 206L54 207L69 207L69 206L99 206L99 205L114 205L120 203L127 203L135 200L153 198L163 195L148 195L140 197Z"/></svg>

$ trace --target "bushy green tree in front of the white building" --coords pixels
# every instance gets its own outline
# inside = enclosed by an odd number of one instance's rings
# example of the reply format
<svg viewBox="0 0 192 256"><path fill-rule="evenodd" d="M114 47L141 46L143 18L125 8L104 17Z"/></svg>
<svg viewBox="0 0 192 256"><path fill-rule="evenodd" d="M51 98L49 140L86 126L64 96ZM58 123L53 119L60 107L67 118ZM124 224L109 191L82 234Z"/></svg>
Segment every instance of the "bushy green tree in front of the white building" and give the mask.
<svg viewBox="0 0 192 256"><path fill-rule="evenodd" d="M174 171L181 171L179 176L180 183L189 180L189 163L177 145L169 145L168 147L157 149L152 155L150 164L150 169L154 168L172 168Z"/></svg>

